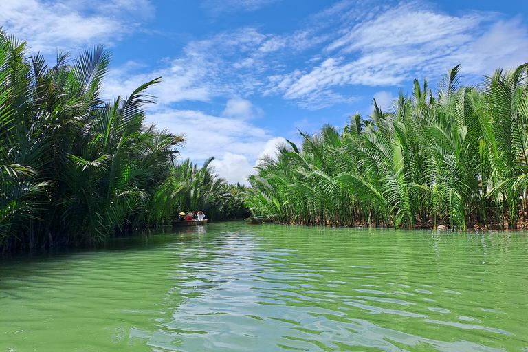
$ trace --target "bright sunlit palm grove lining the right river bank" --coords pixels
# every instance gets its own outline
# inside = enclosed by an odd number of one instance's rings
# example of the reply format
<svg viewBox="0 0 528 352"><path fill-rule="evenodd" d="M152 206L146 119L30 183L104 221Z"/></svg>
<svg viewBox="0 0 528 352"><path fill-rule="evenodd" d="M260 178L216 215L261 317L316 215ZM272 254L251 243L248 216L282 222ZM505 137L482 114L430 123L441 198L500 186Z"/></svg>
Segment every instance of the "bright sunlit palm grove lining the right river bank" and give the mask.
<svg viewBox="0 0 528 352"><path fill-rule="evenodd" d="M479 87L448 70L438 89L415 80L390 112L342 131L301 133L267 159L247 203L256 214L304 224L517 228L526 219L527 65Z"/></svg>

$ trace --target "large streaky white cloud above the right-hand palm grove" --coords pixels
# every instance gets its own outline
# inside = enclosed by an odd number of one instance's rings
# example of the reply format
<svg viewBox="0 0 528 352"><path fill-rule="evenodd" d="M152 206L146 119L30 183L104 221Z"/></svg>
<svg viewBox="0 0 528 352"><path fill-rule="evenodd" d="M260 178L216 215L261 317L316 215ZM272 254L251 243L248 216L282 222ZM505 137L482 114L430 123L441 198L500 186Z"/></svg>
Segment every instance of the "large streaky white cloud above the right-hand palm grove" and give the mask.
<svg viewBox="0 0 528 352"><path fill-rule="evenodd" d="M342 12L347 6L361 10L358 3L339 5ZM341 20L340 36L322 50L322 63L270 75L264 94L282 94L301 107L319 109L353 101L338 91L349 85L397 86L412 78L439 78L459 63L463 73L471 74L470 83L476 83L481 75L520 65L528 57L528 32L520 18L504 21L481 12L457 17L417 2L371 9L354 18L362 20Z"/></svg>

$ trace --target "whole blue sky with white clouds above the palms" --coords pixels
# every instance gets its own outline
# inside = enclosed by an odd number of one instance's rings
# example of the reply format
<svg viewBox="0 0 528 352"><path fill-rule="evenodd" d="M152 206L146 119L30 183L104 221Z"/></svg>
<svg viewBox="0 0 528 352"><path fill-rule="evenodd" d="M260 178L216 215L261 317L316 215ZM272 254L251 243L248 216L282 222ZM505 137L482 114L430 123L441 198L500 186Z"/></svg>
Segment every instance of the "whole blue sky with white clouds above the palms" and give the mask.
<svg viewBox="0 0 528 352"><path fill-rule="evenodd" d="M245 181L298 129L390 109L412 80L467 85L528 61L528 1L1 0L0 26L50 61L57 48L113 52L110 96L149 92L148 120L185 133L183 158Z"/></svg>

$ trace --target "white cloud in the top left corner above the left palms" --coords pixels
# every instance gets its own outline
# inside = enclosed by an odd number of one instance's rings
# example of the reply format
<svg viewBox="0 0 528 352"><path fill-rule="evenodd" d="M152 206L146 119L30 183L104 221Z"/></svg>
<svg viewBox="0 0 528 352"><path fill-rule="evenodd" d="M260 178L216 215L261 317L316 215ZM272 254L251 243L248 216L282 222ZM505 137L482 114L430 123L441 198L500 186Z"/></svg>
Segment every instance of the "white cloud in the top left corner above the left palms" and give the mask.
<svg viewBox="0 0 528 352"><path fill-rule="evenodd" d="M3 29L45 54L104 43L112 45L153 14L147 0L2 0Z"/></svg>

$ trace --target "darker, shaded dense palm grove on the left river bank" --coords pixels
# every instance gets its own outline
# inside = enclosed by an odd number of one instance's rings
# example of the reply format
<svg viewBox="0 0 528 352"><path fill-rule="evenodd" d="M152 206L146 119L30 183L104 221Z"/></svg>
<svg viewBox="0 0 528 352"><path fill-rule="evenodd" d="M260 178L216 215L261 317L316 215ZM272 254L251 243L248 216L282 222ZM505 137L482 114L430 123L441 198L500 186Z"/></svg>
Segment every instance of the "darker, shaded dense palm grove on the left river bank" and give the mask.
<svg viewBox="0 0 528 352"><path fill-rule="evenodd" d="M104 100L103 47L50 67L0 30L0 251L93 243L181 210L242 217L243 186L177 163L183 135L144 124L146 89Z"/></svg>

